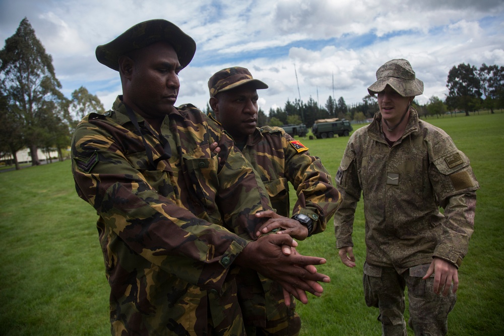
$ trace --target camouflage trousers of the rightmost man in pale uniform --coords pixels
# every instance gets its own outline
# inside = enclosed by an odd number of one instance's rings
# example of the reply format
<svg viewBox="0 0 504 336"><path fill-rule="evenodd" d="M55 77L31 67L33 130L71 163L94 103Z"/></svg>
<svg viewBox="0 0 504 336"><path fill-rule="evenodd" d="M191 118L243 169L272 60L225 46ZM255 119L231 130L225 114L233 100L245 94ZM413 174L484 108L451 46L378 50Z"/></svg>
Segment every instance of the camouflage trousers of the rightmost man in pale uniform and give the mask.
<svg viewBox="0 0 504 336"><path fill-rule="evenodd" d="M404 321L404 290L408 287L409 314L408 325L415 336L446 335L448 332L448 313L453 309L456 294L449 291L448 296L433 292L434 277L427 280L429 264L409 268L398 274L393 267L364 264L364 296L368 307L380 310L378 320L382 322L385 336L407 336Z"/></svg>

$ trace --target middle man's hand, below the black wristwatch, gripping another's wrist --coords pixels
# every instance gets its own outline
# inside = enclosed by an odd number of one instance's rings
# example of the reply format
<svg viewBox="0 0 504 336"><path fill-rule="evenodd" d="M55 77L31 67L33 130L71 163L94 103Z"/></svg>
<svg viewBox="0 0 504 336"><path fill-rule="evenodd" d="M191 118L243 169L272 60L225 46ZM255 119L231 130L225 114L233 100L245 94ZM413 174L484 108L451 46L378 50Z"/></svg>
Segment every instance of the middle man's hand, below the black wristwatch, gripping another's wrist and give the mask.
<svg viewBox="0 0 504 336"><path fill-rule="evenodd" d="M308 228L295 219L278 215L273 210L262 211L256 214L258 218L269 218L264 222L256 232L256 236L261 236L263 233L271 232L275 229L278 234L288 234L291 237L299 240L304 240L308 236Z"/></svg>

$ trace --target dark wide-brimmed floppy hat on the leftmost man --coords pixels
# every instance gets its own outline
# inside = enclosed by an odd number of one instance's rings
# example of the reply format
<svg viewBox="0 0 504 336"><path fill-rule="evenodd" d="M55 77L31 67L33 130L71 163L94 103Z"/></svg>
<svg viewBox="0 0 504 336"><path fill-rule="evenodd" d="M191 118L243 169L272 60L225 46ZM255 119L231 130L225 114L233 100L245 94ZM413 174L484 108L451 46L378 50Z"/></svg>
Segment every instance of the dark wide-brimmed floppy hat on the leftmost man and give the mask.
<svg viewBox="0 0 504 336"><path fill-rule="evenodd" d="M196 52L196 42L191 36L169 21L156 19L136 24L107 44L99 45L96 47L96 59L119 71L120 56L160 41L173 46L182 68L191 62Z"/></svg>

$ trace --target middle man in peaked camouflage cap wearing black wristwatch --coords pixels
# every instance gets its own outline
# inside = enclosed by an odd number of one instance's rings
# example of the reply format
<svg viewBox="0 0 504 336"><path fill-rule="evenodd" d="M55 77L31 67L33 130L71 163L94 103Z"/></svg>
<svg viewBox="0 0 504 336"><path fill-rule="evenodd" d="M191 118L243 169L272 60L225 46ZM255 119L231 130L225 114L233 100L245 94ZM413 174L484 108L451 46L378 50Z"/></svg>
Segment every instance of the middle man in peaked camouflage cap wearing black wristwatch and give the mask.
<svg viewBox="0 0 504 336"><path fill-rule="evenodd" d="M254 79L241 67L227 68L215 73L208 81L210 106L216 119L230 133L236 146L254 167L265 184L273 211L262 212L271 217L258 235L281 228L297 239L323 232L341 199L332 185L331 176L318 157L295 141L280 127L256 127L258 120L258 89L268 86ZM292 183L298 199L290 218L289 186ZM295 302L269 279L252 272L237 275L239 302L247 334L295 335L300 318Z"/></svg>

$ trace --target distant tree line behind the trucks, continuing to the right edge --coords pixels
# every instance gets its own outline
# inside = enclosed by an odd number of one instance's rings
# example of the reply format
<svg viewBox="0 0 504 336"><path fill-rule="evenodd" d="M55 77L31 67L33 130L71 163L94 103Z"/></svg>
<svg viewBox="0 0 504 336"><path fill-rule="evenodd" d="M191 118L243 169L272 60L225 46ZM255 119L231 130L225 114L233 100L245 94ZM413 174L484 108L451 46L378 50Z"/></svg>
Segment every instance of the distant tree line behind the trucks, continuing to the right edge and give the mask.
<svg viewBox="0 0 504 336"><path fill-rule="evenodd" d="M444 100L437 96L429 98L426 104L413 100L413 107L420 117L442 116L446 113L454 115L457 112L469 112L487 109L494 113L495 109L504 108L504 66L482 64L480 68L461 63L453 66L447 78L449 94ZM312 97L305 103L295 99L287 100L284 108L270 108L268 115L259 110L259 126L282 126L286 124L304 123L311 127L317 119L340 118L358 123L373 117L379 110L376 96L366 95L362 101L347 105L340 97L337 101L329 96L325 105L321 106ZM210 106L206 113L212 113Z"/></svg>

